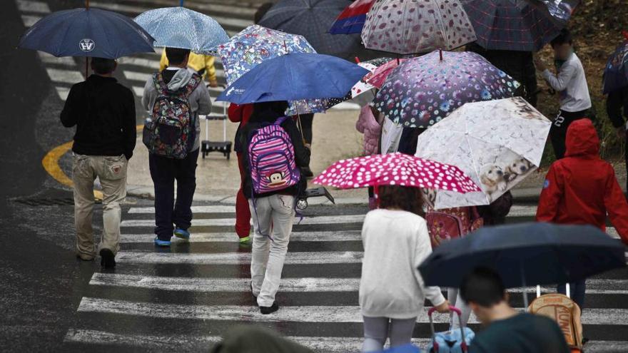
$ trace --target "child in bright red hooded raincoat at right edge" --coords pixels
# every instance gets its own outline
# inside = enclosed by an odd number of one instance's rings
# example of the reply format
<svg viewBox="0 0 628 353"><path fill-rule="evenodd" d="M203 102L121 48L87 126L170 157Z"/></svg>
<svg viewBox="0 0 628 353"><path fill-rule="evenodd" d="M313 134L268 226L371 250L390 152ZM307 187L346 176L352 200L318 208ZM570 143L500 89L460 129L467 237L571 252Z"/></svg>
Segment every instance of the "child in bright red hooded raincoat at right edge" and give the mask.
<svg viewBox="0 0 628 353"><path fill-rule="evenodd" d="M599 138L589 119L567 129L567 153L550 167L537 209L537 222L594 225L606 231L608 216L628 245L628 203L615 171L599 158ZM569 284L572 299L582 309L584 280ZM564 285L559 286L564 293Z"/></svg>

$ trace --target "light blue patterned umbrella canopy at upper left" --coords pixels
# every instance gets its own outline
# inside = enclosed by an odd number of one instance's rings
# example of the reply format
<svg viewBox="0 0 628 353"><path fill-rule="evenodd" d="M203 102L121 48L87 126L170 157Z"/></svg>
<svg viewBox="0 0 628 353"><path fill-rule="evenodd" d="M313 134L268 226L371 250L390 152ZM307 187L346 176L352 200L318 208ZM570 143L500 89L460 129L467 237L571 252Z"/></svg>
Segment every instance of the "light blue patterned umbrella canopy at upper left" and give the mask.
<svg viewBox="0 0 628 353"><path fill-rule="evenodd" d="M146 11L137 16L135 21L155 38L155 46L213 54L214 47L229 40L229 36L216 20L184 7Z"/></svg>

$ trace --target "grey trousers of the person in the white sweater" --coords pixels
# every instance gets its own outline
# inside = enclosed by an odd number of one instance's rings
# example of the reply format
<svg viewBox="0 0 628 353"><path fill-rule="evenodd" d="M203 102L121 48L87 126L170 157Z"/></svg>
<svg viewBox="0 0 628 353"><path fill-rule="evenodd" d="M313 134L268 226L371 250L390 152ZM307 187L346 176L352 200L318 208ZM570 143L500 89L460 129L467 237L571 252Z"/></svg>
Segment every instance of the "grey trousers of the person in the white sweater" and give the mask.
<svg viewBox="0 0 628 353"><path fill-rule="evenodd" d="M402 346L412 342L416 317L412 319L390 319L388 317L363 317L364 344L362 352L380 352L386 339L390 338L390 347Z"/></svg>

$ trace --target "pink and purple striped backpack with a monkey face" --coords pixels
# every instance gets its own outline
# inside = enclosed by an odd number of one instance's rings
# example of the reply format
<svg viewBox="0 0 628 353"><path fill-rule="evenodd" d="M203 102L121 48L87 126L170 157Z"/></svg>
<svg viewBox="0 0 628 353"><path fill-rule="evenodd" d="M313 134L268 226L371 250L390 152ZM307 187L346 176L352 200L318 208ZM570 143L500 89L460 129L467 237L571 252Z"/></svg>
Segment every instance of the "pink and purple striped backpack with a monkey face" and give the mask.
<svg viewBox="0 0 628 353"><path fill-rule="evenodd" d="M296 185L300 172L290 135L281 127L287 117L255 131L248 145L253 192L271 193Z"/></svg>

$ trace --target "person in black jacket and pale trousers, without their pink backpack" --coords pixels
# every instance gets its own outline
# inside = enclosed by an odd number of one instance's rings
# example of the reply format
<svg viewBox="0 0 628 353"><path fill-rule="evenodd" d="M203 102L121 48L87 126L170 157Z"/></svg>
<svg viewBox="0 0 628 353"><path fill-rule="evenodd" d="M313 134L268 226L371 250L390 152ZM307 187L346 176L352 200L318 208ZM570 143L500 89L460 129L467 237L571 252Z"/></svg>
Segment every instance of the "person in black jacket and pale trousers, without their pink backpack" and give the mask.
<svg viewBox="0 0 628 353"><path fill-rule="evenodd" d="M255 103L253 114L240 133L244 151L243 191L249 200L255 230L250 263L251 291L253 296L257 297L262 314L270 314L279 308L275 302L275 294L279 289L285 253L288 252L295 217L295 199L302 188L302 183L273 193L254 193L248 150L255 131L285 116L286 108L288 108L286 101ZM305 167L310 163L310 150L303 145L303 138L295 122L288 118L280 126L290 136L297 168ZM305 178L302 177L301 181L305 181Z"/></svg>

